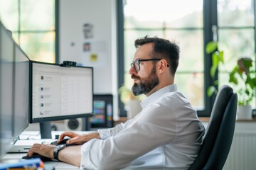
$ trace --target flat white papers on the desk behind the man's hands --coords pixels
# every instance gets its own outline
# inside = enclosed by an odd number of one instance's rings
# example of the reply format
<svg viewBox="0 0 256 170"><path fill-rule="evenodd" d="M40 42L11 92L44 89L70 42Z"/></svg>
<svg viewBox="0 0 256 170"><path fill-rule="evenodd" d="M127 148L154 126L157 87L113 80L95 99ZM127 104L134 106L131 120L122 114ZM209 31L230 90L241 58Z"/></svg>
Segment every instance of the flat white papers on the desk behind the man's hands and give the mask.
<svg viewBox="0 0 256 170"><path fill-rule="evenodd" d="M15 144L9 149L9 153L27 153L35 143L50 144L53 139L41 139L41 140L17 140Z"/></svg>

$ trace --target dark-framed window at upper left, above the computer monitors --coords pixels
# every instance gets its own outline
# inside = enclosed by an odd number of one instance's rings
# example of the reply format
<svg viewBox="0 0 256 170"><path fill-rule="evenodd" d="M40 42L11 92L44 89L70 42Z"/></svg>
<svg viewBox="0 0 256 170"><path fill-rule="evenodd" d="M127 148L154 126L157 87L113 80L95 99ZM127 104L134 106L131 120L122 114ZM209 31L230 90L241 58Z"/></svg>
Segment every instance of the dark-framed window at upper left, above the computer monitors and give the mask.
<svg viewBox="0 0 256 170"><path fill-rule="evenodd" d="M55 62L55 0L1 1L0 16L31 60Z"/></svg>

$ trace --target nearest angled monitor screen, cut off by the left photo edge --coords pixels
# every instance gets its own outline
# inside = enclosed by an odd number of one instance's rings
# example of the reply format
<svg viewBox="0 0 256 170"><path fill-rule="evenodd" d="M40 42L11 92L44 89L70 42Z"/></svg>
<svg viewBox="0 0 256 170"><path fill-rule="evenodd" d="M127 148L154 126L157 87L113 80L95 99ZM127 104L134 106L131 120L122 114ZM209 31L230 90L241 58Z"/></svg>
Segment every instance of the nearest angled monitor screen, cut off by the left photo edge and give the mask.
<svg viewBox="0 0 256 170"><path fill-rule="evenodd" d="M13 141L14 41L0 22L0 157Z"/></svg>

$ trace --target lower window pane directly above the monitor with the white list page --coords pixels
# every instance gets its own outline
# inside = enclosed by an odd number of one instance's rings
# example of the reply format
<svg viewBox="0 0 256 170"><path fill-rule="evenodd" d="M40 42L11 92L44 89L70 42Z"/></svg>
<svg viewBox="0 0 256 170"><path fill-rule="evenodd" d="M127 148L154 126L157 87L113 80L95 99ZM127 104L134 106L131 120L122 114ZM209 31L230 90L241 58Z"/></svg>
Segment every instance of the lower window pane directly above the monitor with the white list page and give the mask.
<svg viewBox="0 0 256 170"><path fill-rule="evenodd" d="M55 62L55 32L23 33L21 48L31 60Z"/></svg>

